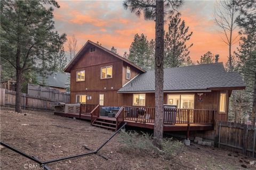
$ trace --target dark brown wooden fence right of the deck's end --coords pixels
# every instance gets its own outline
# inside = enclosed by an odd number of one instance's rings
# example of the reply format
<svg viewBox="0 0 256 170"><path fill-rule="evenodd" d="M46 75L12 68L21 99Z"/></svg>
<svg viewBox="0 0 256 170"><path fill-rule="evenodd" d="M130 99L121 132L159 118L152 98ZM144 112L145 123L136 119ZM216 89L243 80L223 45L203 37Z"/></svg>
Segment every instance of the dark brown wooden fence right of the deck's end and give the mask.
<svg viewBox="0 0 256 170"><path fill-rule="evenodd" d="M222 121L217 122L217 124L219 148L240 151L249 156L255 155L255 126Z"/></svg>

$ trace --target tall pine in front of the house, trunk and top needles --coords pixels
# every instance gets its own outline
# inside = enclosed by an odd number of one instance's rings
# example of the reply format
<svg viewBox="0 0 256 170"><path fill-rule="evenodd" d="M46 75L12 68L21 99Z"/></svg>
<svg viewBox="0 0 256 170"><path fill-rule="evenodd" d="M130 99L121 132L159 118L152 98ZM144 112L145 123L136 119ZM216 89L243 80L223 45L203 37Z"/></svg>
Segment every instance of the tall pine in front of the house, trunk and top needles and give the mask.
<svg viewBox="0 0 256 170"><path fill-rule="evenodd" d="M124 1L124 8L140 16L144 13L146 20L155 20L156 46L155 46L155 125L154 142L161 147L163 139L163 84L164 84L164 16L172 15L182 5L183 1Z"/></svg>

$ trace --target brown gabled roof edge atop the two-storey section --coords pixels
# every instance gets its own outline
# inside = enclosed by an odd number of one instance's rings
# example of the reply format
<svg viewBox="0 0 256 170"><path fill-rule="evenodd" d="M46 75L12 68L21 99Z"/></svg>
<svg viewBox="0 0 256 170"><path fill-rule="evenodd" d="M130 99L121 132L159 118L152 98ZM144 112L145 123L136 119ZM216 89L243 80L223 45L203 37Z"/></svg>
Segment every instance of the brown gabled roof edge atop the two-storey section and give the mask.
<svg viewBox="0 0 256 170"><path fill-rule="evenodd" d="M79 50L79 52L76 54L76 56L73 58L73 60L71 60L71 62L67 65L67 67L64 69L65 72L69 72L71 68L74 66L74 64L79 60L79 58L81 56L83 56L83 53L89 48L91 47L90 45L96 46L102 50L104 50L105 52L119 58L120 60L132 65L133 67L135 67L136 69L140 70L141 72L145 73L146 71L141 69L141 67L139 67L138 65L135 65L134 63L130 62L129 60L127 60L126 58L119 56L118 54L115 54L113 52L111 52L110 50L108 50L107 48L104 48L96 43L93 43L92 41L88 40L85 45Z"/></svg>

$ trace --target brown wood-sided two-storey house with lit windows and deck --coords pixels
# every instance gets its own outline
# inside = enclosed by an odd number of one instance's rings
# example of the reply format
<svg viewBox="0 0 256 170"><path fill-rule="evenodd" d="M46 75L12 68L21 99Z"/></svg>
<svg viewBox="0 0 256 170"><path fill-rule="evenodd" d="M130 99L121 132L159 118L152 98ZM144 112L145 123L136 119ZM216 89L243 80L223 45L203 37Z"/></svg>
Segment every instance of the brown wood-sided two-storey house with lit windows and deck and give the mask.
<svg viewBox="0 0 256 170"><path fill-rule="evenodd" d="M154 128L154 70L145 71L89 40L65 72L70 73L70 103L82 103L77 117L108 129L123 122ZM215 121L228 119L232 90L242 89L240 75L226 72L223 63L165 69L164 104L171 107L164 110L164 131L213 130ZM103 106L123 107L114 118L104 118L99 115Z"/></svg>

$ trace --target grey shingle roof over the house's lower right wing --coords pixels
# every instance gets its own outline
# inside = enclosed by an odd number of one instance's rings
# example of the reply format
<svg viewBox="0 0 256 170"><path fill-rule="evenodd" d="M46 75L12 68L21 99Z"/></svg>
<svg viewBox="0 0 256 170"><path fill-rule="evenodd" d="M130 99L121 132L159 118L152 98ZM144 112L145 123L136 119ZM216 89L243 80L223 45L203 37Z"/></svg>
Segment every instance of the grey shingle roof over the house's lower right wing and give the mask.
<svg viewBox="0 0 256 170"><path fill-rule="evenodd" d="M244 88L241 76L226 72L222 63L200 64L164 69L164 91ZM118 92L155 91L155 71L142 73Z"/></svg>

